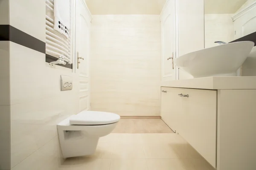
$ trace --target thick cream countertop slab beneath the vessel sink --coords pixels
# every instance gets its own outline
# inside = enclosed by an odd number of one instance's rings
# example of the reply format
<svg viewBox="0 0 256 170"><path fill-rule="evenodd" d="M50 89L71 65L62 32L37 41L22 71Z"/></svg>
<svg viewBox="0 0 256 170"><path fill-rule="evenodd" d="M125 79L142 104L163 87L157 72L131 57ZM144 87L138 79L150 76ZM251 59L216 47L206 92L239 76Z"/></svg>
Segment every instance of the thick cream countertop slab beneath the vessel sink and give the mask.
<svg viewBox="0 0 256 170"><path fill-rule="evenodd" d="M256 89L256 76L242 77L201 77L161 82L162 87L198 89Z"/></svg>

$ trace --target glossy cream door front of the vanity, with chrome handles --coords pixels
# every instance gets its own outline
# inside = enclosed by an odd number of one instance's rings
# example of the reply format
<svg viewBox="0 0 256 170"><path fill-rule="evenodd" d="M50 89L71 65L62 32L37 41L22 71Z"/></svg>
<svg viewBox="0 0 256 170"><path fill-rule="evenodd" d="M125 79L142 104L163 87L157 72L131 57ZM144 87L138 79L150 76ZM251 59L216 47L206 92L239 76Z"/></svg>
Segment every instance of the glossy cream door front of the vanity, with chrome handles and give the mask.
<svg viewBox="0 0 256 170"><path fill-rule="evenodd" d="M162 119L216 166L217 91L161 88Z"/></svg>

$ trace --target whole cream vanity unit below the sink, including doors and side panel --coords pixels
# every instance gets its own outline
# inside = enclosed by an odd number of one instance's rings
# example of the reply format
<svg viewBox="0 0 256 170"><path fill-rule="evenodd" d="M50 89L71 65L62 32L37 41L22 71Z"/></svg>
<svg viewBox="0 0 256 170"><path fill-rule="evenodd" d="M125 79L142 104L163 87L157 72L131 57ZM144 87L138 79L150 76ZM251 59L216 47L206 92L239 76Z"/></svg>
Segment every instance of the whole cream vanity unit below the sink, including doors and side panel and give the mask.
<svg viewBox="0 0 256 170"><path fill-rule="evenodd" d="M176 80L161 87L162 119L217 170L255 170L256 85L248 86L250 77L224 78ZM202 83L209 88L195 89Z"/></svg>

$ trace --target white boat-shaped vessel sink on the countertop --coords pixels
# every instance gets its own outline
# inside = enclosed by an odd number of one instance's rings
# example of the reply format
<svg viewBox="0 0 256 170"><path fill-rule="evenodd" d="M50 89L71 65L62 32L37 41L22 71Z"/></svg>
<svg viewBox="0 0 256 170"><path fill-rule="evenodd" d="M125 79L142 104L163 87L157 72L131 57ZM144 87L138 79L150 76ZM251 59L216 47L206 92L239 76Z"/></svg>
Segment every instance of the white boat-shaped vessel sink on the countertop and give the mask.
<svg viewBox="0 0 256 170"><path fill-rule="evenodd" d="M193 77L236 76L254 42L241 41L194 51L174 59L175 64Z"/></svg>

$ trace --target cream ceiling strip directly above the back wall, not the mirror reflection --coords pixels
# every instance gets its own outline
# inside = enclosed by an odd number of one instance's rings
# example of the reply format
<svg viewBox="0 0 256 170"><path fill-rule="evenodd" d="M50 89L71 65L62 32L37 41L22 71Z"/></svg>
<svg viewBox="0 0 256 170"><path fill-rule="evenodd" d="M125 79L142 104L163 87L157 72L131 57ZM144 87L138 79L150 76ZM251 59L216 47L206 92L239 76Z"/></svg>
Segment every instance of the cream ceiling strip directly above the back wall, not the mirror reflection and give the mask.
<svg viewBox="0 0 256 170"><path fill-rule="evenodd" d="M85 0L92 14L160 14L166 0Z"/></svg>

